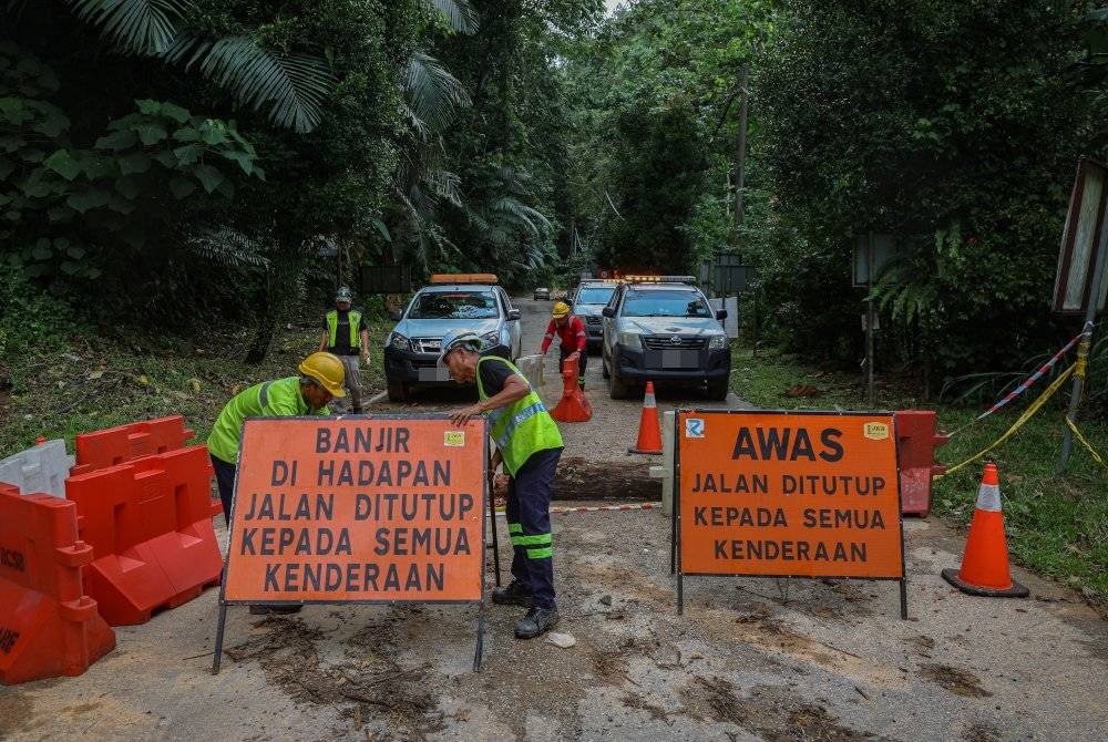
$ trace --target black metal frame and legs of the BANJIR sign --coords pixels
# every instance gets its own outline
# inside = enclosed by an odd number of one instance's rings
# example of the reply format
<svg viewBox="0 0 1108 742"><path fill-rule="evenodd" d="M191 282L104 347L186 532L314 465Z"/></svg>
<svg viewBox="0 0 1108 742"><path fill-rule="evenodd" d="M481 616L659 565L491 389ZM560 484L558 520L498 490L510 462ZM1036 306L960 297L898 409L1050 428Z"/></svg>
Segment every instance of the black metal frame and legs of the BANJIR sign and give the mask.
<svg viewBox="0 0 1108 742"><path fill-rule="evenodd" d="M361 415L336 415L336 416L288 416L288 418L247 418L243 421L243 427L239 433L239 441L242 441L246 434L246 426L252 421L265 421L265 422L361 422L361 421L396 421L402 423L412 420L442 420L449 421L450 415L443 413L422 413L422 414L361 414ZM484 648L484 614L485 614L485 557L490 547L489 537L486 534L486 526L492 526L492 544L493 547L493 559L495 563L495 577L496 585L500 585L500 550L496 547L496 519L495 519L495 508L490 507L491 498L493 497L493 492L490 488L491 477L489 477L489 426L488 421L481 416L475 418L471 421L480 426L479 434L482 440L482 470L481 470L481 481L482 481L482 492L481 492L481 546L480 559L481 559L481 597L476 600L425 600L425 599L356 599L356 600L281 600L281 599L269 599L265 600L266 605L274 606L328 606L328 605L343 605L343 606L397 606L397 605L459 605L459 606L478 606L478 626L476 626L476 643L473 652L473 671L481 671L481 660L483 656ZM239 458L242 458L242 450L239 450ZM242 461L239 461L242 464ZM235 525L235 511L238 505L238 473L239 467L235 471L235 489L232 496L232 507L228 530L234 528ZM252 605L258 602L257 600L228 600L226 598L227 588L227 568L230 564L232 554L228 544L227 557L223 563L223 571L219 580L219 617L218 624L216 626L215 635L215 649L212 660L212 674L219 673L219 667L223 659L223 641L224 641L224 630L226 628L227 620L227 606L240 606L240 605Z"/></svg>

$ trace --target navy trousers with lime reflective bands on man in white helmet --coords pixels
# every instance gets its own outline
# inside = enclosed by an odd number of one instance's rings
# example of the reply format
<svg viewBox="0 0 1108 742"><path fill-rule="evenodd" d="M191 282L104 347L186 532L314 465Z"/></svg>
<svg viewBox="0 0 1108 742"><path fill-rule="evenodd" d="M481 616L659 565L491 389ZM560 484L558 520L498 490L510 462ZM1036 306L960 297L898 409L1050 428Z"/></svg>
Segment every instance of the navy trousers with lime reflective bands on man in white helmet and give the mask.
<svg viewBox="0 0 1108 742"><path fill-rule="evenodd" d="M531 588L536 608L554 608L551 496L562 449L531 454L507 480L507 532L515 555L512 576Z"/></svg>

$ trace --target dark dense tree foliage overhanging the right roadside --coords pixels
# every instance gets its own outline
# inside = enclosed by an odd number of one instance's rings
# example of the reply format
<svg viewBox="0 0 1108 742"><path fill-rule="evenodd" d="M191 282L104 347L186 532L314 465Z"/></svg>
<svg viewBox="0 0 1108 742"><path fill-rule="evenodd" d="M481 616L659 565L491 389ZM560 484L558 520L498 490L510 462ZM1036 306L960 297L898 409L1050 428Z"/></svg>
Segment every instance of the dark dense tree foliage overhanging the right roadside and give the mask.
<svg viewBox="0 0 1108 742"><path fill-rule="evenodd" d="M910 257L874 291L886 359L1013 368L1053 346L1044 305L1088 133L1068 76L1083 22L1078 2L789 3L756 76L757 152L779 224L821 246L827 272L767 284L770 302L798 320L838 309L852 235L888 233ZM854 347L860 311L829 340Z"/></svg>

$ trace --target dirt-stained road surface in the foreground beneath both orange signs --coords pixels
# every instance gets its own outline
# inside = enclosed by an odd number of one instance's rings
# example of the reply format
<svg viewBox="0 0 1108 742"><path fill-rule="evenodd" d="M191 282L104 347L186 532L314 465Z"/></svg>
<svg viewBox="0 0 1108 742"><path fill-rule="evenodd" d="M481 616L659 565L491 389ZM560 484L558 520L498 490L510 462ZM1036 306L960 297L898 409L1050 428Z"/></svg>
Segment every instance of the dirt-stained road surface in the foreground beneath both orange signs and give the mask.
<svg viewBox="0 0 1108 742"><path fill-rule="evenodd" d="M474 673L476 608L232 607L213 677L208 590L117 629L84 676L0 689L0 738L1105 739L1105 622L1024 573L1028 600L954 591L945 527L907 523L907 621L895 584L844 580L686 578L678 616L668 530L657 511L555 516L570 649L517 641L522 609L489 605Z"/></svg>

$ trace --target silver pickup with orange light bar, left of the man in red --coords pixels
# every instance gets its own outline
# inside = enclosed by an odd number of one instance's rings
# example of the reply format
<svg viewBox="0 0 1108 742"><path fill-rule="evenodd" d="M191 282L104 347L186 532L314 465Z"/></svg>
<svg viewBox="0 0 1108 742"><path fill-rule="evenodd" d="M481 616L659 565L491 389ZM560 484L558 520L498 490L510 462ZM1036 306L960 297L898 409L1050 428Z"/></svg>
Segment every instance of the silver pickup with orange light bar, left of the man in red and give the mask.
<svg viewBox="0 0 1108 742"><path fill-rule="evenodd" d="M416 292L384 346L389 399L402 402L413 389L450 387L445 369L435 364L442 337L462 328L480 334L488 352L512 360L522 352L520 310L492 274L442 274Z"/></svg>

